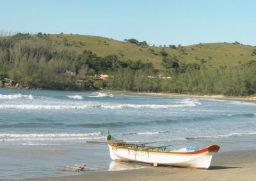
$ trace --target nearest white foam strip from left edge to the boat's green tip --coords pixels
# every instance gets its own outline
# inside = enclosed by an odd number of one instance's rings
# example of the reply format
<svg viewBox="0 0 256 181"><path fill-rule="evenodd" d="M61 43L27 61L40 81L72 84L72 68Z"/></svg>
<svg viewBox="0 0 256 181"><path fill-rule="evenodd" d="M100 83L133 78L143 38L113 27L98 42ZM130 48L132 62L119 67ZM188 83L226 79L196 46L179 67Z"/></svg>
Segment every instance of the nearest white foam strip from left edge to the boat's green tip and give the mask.
<svg viewBox="0 0 256 181"><path fill-rule="evenodd" d="M44 141L44 140L86 140L102 139L105 133L1 133L0 141Z"/></svg>

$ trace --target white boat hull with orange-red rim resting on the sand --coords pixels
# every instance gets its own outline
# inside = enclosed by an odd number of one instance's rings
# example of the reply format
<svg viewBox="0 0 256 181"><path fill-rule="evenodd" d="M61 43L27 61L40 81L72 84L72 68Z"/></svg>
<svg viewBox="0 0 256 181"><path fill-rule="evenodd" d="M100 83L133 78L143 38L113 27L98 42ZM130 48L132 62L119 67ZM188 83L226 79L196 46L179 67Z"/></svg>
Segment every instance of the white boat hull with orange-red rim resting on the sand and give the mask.
<svg viewBox="0 0 256 181"><path fill-rule="evenodd" d="M112 143L108 146L110 157L113 160L204 169L209 168L212 156L220 149L218 145L211 145L193 152L164 152L122 147Z"/></svg>

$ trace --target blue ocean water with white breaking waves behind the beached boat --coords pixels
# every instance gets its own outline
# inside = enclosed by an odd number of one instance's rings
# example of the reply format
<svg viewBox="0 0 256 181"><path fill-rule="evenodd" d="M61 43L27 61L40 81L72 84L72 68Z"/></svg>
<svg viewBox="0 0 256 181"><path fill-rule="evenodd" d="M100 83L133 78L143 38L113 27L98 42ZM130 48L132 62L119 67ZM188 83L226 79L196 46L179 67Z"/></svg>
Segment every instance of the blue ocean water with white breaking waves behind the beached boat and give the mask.
<svg viewBox="0 0 256 181"><path fill-rule="evenodd" d="M106 133L170 148L256 148L256 102L102 92L0 89L0 179L60 177L87 164L100 171L145 165L115 163Z"/></svg>

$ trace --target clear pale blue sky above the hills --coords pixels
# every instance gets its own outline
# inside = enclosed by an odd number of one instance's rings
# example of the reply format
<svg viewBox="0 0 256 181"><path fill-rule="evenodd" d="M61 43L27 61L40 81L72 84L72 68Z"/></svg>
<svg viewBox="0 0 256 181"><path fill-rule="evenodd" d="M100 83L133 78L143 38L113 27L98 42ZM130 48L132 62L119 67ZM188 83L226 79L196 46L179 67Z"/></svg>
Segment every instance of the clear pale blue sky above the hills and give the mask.
<svg viewBox="0 0 256 181"><path fill-rule="evenodd" d="M256 45L253 0L0 0L0 31Z"/></svg>

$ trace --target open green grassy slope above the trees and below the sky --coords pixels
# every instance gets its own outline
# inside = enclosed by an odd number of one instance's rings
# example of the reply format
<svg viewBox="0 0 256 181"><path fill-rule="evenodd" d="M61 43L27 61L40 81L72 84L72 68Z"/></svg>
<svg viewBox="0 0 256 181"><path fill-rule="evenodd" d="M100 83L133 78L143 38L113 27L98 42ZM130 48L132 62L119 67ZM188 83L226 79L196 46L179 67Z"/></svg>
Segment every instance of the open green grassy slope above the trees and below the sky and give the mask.
<svg viewBox="0 0 256 181"><path fill-rule="evenodd" d="M185 47L152 47L138 46L127 41L116 41L99 36L82 36L74 34L51 34L52 41L62 42L67 38L68 46L58 46L58 49L68 48L81 53L83 50L91 50L98 56L104 57L109 54L116 54L123 60L152 62L154 68L163 69L161 66L162 56L159 55L164 50L169 55L176 56L180 62L197 62L204 59L205 64L209 66L235 65L237 62L248 62L256 60L252 56L255 47L233 43L200 43ZM148 49L153 49L154 54Z"/></svg>

